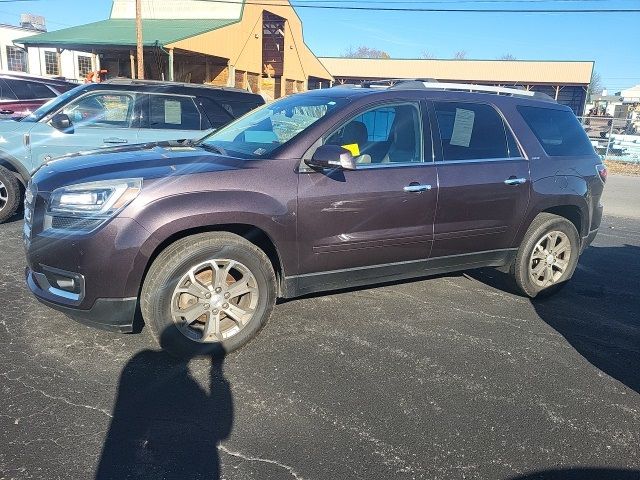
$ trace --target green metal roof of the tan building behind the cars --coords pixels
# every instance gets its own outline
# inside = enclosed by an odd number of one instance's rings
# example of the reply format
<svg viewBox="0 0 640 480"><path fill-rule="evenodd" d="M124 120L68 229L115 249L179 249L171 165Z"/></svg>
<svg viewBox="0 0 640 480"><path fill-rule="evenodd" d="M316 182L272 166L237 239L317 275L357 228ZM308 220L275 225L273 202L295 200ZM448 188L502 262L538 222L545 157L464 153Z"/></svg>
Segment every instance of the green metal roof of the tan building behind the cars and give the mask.
<svg viewBox="0 0 640 480"><path fill-rule="evenodd" d="M143 20L143 43L146 46L161 46L177 42L202 33L217 30L237 22L237 19L226 20ZM134 46L136 45L135 20L128 18L110 18L100 22L64 28L40 35L23 37L14 40L29 46L66 48L91 46Z"/></svg>

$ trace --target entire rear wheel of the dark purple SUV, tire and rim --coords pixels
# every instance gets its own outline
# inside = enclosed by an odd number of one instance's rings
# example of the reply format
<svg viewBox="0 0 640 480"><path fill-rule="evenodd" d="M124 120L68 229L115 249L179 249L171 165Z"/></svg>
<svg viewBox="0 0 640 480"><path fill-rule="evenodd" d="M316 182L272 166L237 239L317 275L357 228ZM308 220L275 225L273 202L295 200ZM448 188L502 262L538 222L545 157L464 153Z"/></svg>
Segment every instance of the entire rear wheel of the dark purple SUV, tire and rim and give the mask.
<svg viewBox="0 0 640 480"><path fill-rule="evenodd" d="M511 265L511 275L525 295L550 295L573 276L579 254L580 237L573 223L558 215L541 213L524 236Z"/></svg>

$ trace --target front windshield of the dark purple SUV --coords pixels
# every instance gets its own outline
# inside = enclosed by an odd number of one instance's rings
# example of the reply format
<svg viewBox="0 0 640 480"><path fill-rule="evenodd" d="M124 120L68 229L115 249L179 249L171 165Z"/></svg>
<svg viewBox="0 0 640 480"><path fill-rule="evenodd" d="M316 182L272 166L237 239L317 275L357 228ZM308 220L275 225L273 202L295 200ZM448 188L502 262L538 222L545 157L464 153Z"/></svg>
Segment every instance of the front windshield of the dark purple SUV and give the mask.
<svg viewBox="0 0 640 480"><path fill-rule="evenodd" d="M249 112L201 143L241 158L268 157L346 102L344 98L292 95Z"/></svg>

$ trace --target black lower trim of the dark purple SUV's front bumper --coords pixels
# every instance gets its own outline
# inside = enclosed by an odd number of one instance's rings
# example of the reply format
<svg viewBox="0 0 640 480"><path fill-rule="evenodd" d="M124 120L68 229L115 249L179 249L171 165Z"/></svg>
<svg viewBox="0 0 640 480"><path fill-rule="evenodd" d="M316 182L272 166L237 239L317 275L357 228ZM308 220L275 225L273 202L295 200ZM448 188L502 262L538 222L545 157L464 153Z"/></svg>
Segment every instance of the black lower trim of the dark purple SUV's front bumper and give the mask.
<svg viewBox="0 0 640 480"><path fill-rule="evenodd" d="M133 331L133 323L138 304L136 297L97 298L93 305L85 310L56 302L55 293L51 293L47 285L41 286L38 283L37 274L34 274L28 267L26 269L26 277L27 285L31 293L46 306L94 328L121 333Z"/></svg>

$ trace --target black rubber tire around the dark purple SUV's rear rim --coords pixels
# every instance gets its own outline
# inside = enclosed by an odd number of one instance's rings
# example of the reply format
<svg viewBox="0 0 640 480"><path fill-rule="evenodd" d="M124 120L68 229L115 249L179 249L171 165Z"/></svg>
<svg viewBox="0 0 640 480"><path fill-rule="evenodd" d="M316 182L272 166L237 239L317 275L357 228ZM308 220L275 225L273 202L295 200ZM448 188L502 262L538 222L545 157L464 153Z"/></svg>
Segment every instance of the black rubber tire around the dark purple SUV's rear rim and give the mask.
<svg viewBox="0 0 640 480"><path fill-rule="evenodd" d="M537 284L531 275L530 265L532 254L536 244L551 232L564 233L571 245L567 266L561 276L549 286ZM551 213L539 214L527 229L514 262L511 264L510 274L517 288L524 295L534 298L536 296L549 296L557 293L573 276L578 257L580 255L580 237L573 223L564 217Z"/></svg>

